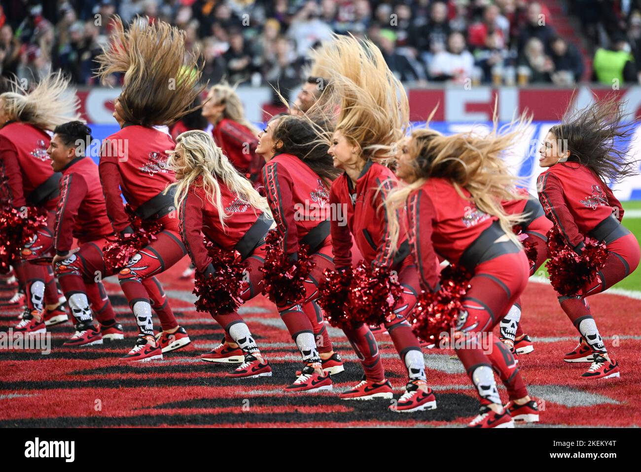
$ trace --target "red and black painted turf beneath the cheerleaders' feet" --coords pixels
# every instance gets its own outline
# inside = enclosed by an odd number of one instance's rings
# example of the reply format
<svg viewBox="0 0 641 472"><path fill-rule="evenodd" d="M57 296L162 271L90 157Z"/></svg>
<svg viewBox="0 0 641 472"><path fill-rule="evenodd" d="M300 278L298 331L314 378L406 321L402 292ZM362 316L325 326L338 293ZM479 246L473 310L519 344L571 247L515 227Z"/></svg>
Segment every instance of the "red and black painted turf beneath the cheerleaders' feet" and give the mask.
<svg viewBox="0 0 641 472"><path fill-rule="evenodd" d="M209 315L197 313L190 302L181 300L193 288L178 277L186 264L183 259L160 279L165 290L171 291L172 307L192 344L165 354L162 362L119 363L119 356L131 348L135 322L118 285L107 283L126 338L92 347L62 347L73 333L71 322L67 322L49 328L49 355L0 350L0 426L463 426L476 414L478 400L460 362L449 359L451 350L425 351L437 410L398 415L387 412L385 400L349 405L340 401L338 393L358 383L362 369L346 338L336 330L331 334L344 358L345 372L334 377L334 390L285 394L283 387L295 379L300 362L277 311L263 297L249 302L244 308L252 312L243 316L272 364L274 376L226 378L225 372L234 365L199 360L200 354L219 342L222 329ZM4 290L0 298L11 294ZM519 367L543 410L540 424L640 425L637 355L641 340L636 328L641 301L607 293L590 299L601 335L608 337L606 345L621 366L620 379L599 381L581 378L588 363L562 361L563 354L576 345L578 335L560 310L553 290L531 283L522 302L522 324L535 338L535 351L519 356ZM264 312L256 313L256 309ZM17 314L18 310L0 312L0 330L15 326ZM376 337L397 398L406 383L405 369L388 335Z"/></svg>

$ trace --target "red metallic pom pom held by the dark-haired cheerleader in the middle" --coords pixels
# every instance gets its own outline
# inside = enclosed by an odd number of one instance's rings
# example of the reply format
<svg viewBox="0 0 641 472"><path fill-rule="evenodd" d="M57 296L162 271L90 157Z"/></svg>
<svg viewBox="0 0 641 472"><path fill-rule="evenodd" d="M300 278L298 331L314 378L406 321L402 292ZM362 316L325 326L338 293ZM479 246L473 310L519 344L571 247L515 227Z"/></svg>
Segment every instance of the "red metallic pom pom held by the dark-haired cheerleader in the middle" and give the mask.
<svg viewBox="0 0 641 472"><path fill-rule="evenodd" d="M316 265L308 254L309 247L301 245L298 260L290 261L281 249L282 237L274 229L265 236L267 254L260 270L263 272L263 295L276 306L289 306L303 301L304 279Z"/></svg>

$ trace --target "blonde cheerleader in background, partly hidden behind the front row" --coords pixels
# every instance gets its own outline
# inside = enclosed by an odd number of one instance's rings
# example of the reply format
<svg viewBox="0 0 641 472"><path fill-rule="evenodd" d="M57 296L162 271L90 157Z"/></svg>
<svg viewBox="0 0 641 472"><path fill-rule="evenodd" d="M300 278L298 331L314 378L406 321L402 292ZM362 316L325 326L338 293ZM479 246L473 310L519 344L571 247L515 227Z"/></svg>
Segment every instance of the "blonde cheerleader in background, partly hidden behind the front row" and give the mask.
<svg viewBox="0 0 641 472"><path fill-rule="evenodd" d="M212 126L213 139L235 168L256 182L265 161L256 155L258 129L245 118L242 102L235 89L226 83L214 85L202 110Z"/></svg>

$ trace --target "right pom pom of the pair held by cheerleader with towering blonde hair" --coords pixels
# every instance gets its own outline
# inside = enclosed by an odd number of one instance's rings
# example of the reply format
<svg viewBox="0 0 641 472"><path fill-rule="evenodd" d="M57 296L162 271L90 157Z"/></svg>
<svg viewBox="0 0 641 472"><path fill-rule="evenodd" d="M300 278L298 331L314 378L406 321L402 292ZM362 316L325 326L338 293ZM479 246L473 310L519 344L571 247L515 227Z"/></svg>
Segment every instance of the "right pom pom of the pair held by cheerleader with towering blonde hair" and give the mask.
<svg viewBox="0 0 641 472"><path fill-rule="evenodd" d="M403 293L398 276L365 262L354 268L348 309L354 324L378 325L395 317L394 306Z"/></svg>

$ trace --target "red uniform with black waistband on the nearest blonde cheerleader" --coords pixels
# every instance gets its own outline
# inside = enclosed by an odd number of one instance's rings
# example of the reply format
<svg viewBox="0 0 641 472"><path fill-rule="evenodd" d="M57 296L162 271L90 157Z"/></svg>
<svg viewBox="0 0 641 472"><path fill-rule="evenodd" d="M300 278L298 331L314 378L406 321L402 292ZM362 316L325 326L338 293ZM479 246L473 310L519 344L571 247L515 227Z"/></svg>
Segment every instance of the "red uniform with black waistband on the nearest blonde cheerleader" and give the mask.
<svg viewBox="0 0 641 472"><path fill-rule="evenodd" d="M460 314L456 332L491 333L528 283L528 259L508 239L497 218L480 211L466 189L462 192L465 197L449 180L429 179L410 194L410 249L419 266L423 290L437 290L439 286L435 254L473 274L463 301L466 311ZM490 354L474 344L456 353L482 399L500 402L492 367L499 372L510 399L527 396L513 355L503 342L496 340Z"/></svg>

